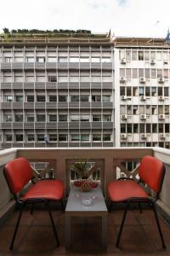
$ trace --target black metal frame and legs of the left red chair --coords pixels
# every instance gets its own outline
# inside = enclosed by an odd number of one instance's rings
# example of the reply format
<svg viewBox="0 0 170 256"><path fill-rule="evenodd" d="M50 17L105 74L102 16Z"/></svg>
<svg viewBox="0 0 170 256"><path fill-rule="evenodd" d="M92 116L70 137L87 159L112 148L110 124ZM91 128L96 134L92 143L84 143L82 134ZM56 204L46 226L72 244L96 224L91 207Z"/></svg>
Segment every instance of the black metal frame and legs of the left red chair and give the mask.
<svg viewBox="0 0 170 256"><path fill-rule="evenodd" d="M4 174L4 177L5 177L6 181L7 181L7 183L8 183L8 178L6 177L5 170L3 170L3 174ZM31 179L31 182L35 183L33 181L33 179ZM53 218L53 215L52 215L52 212L51 212L51 208L49 207L50 201L46 200L46 199L43 199L43 198L29 199L29 200L26 200L26 201L22 201L22 200L20 200L20 198L16 194L14 194L11 191L9 183L8 183L8 188L9 188L10 192L14 195L14 200L16 201L17 207L20 208L18 220L17 220L17 223L16 223L15 228L14 228L14 235L13 235L13 238L12 238L12 241L11 241L9 249L12 250L13 247L14 247L14 240L15 240L18 228L19 228L20 218L22 216L24 208L26 207L26 205L31 204L32 205L32 207L31 207L31 214L32 214L33 213L33 209L34 209L34 205L37 204L37 203L44 203L45 204L45 207L48 210L48 214L49 214L49 218L50 218L50 221L51 221L51 224L52 224L52 228L54 230L55 241L56 241L57 247L59 247L59 238L58 238L57 231L56 231L56 228L55 228L55 225L54 225L54 218ZM62 199L60 200L60 203L61 203L61 207L62 207L63 212L65 212L65 207L64 207Z"/></svg>

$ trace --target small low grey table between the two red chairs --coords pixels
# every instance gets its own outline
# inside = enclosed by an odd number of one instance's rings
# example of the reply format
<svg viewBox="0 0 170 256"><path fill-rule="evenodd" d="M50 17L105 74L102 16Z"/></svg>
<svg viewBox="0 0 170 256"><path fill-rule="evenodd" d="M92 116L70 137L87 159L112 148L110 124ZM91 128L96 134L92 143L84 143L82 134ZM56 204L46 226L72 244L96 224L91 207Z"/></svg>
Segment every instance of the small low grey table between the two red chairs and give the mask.
<svg viewBox="0 0 170 256"><path fill-rule="evenodd" d="M102 220L102 246L107 246L107 207L101 191L101 187L92 189L88 192L82 192L74 185L71 185L71 191L65 208L65 246L71 246L71 217L101 217Z"/></svg>

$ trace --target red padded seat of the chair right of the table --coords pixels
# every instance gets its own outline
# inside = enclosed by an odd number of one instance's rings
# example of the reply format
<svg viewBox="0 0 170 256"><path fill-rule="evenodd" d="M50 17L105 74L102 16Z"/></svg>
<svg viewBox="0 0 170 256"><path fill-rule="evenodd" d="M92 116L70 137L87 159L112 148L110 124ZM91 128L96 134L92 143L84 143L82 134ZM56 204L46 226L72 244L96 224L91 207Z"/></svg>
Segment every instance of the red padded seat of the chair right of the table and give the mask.
<svg viewBox="0 0 170 256"><path fill-rule="evenodd" d="M127 201L133 197L149 197L144 189L133 180L116 180L108 185L111 201Z"/></svg>

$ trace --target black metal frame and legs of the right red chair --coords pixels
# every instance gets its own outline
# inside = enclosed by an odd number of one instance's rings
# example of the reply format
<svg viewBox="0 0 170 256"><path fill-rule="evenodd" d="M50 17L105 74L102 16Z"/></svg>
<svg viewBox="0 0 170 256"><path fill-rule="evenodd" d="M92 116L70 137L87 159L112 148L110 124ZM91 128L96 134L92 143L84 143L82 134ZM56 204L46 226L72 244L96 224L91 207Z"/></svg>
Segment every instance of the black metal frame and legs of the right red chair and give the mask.
<svg viewBox="0 0 170 256"><path fill-rule="evenodd" d="M156 193L156 199L153 199L153 198L135 198L135 197L133 197L133 198L130 198L129 200L127 200L127 201L119 201L119 202L113 202L113 201L111 201L111 205L110 205L110 207L109 207L109 212L111 212L111 208L112 208L112 206L113 206L113 203L116 203L116 204L119 204L119 203L125 203L126 204L126 206L125 206L125 210L124 210L124 213L123 213L123 217L122 217L122 223L121 223L121 227L120 227L120 230L119 230L119 233L118 233L118 236L117 236L117 239L116 239L116 247L119 247L119 242L120 242L120 240L121 240L121 236L122 236L122 229L123 229L123 226L124 226L124 223L125 223L125 219L126 219L126 217L127 217L127 210L129 210L129 207L130 207L130 205L131 204L139 204L139 210L140 210L140 212L142 212L142 207L141 207L141 204L142 203L145 203L145 204L148 204L150 207L151 207L151 209L153 210L153 212L154 212L154 215L155 215L155 218L156 218L156 224L157 224L157 229L158 229L158 231L159 231L159 234L160 234L160 237L161 237L161 244L162 244L162 247L164 248L164 249L166 249L166 245L165 245L165 241L164 241L164 239L163 239L163 235L162 235L162 232L161 232L161 225L160 225L160 223L159 223L159 219L158 219L158 217L157 217L157 212L156 212L156 201L157 201L157 199L158 199L158 197L159 197L159 194L160 194L160 192L161 192L161 187L162 187L162 183L163 183L163 178L164 178L164 176L165 176L165 166L164 166L164 168L163 168L163 177L162 177L162 179L161 179L161 185L160 185L160 190ZM121 177L121 178L118 178L118 180L120 180L120 179L131 179L131 180L133 180L133 178L129 178L129 177ZM141 183L142 182L142 180L141 179L139 179L139 182L138 183Z"/></svg>

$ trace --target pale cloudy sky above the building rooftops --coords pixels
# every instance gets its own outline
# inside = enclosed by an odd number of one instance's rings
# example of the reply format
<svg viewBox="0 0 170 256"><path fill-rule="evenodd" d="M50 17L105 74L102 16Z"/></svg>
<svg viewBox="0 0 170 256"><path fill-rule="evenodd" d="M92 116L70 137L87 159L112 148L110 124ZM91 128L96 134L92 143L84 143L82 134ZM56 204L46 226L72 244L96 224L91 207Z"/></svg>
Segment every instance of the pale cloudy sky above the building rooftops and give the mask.
<svg viewBox="0 0 170 256"><path fill-rule="evenodd" d="M0 32L12 29L88 29L115 36L166 38L170 0L8 0Z"/></svg>

